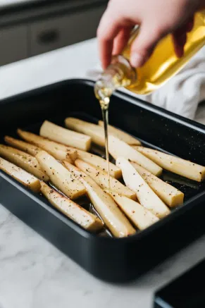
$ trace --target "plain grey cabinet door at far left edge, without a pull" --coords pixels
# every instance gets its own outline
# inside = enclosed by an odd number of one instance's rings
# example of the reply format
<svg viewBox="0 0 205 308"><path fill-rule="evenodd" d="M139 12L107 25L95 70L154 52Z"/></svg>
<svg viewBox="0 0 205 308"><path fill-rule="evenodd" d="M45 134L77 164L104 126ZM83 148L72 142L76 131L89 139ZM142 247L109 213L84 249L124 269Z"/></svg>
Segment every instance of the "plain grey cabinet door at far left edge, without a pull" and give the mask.
<svg viewBox="0 0 205 308"><path fill-rule="evenodd" d="M27 57L27 26L0 29L0 66Z"/></svg>

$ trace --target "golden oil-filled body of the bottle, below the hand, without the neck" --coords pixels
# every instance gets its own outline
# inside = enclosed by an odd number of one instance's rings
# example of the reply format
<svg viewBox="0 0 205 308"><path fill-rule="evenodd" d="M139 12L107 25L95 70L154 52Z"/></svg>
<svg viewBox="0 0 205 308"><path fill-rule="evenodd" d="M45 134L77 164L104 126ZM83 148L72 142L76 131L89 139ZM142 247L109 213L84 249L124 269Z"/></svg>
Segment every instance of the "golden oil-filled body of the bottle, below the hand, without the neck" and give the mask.
<svg viewBox="0 0 205 308"><path fill-rule="evenodd" d="M133 39L137 37L139 30L135 30L128 45L123 51L125 58L130 58L130 48ZM185 64L196 54L205 44L205 11L196 13L194 17L194 27L187 34L187 43L182 58L175 55L173 39L171 35L161 39L154 49L147 63L141 68L137 68L137 80L129 85L128 90L137 94L150 94L167 82L173 75L178 73Z"/></svg>

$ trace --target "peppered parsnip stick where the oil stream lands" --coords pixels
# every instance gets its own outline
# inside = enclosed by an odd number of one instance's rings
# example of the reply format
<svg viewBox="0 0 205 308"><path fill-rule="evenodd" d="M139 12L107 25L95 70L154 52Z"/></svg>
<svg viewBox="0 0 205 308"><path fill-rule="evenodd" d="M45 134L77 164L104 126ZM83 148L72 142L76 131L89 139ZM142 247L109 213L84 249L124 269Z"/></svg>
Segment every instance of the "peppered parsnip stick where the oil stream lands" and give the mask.
<svg viewBox="0 0 205 308"><path fill-rule="evenodd" d="M105 171L102 171L101 169L94 167L91 164L87 164L85 161L80 159L75 161L75 166L89 175L90 178L92 178L103 190L109 188L108 174ZM135 192L132 192L132 190L120 183L118 180L116 180L116 178L113 178L112 176L110 176L110 185L111 192L117 192L118 194L130 199L136 199Z"/></svg>

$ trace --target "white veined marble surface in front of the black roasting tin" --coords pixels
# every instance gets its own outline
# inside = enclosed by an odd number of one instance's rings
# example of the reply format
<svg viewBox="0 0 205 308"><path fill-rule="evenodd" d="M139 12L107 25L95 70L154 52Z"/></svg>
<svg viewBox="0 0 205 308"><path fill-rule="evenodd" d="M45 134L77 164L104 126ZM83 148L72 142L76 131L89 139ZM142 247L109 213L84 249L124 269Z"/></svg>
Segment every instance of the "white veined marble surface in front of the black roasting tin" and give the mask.
<svg viewBox="0 0 205 308"><path fill-rule="evenodd" d="M128 285L89 275L0 207L0 307L151 308L153 292L205 257L205 237Z"/></svg>

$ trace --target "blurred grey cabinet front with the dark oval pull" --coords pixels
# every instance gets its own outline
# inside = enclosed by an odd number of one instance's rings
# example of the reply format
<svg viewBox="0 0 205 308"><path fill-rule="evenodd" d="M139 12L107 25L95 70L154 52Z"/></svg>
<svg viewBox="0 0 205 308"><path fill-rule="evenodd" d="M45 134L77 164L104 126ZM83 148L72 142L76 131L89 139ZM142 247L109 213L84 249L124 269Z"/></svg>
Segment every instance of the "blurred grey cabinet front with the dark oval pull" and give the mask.
<svg viewBox="0 0 205 308"><path fill-rule="evenodd" d="M73 12L30 26L30 56L91 39L96 36L106 6Z"/></svg>

